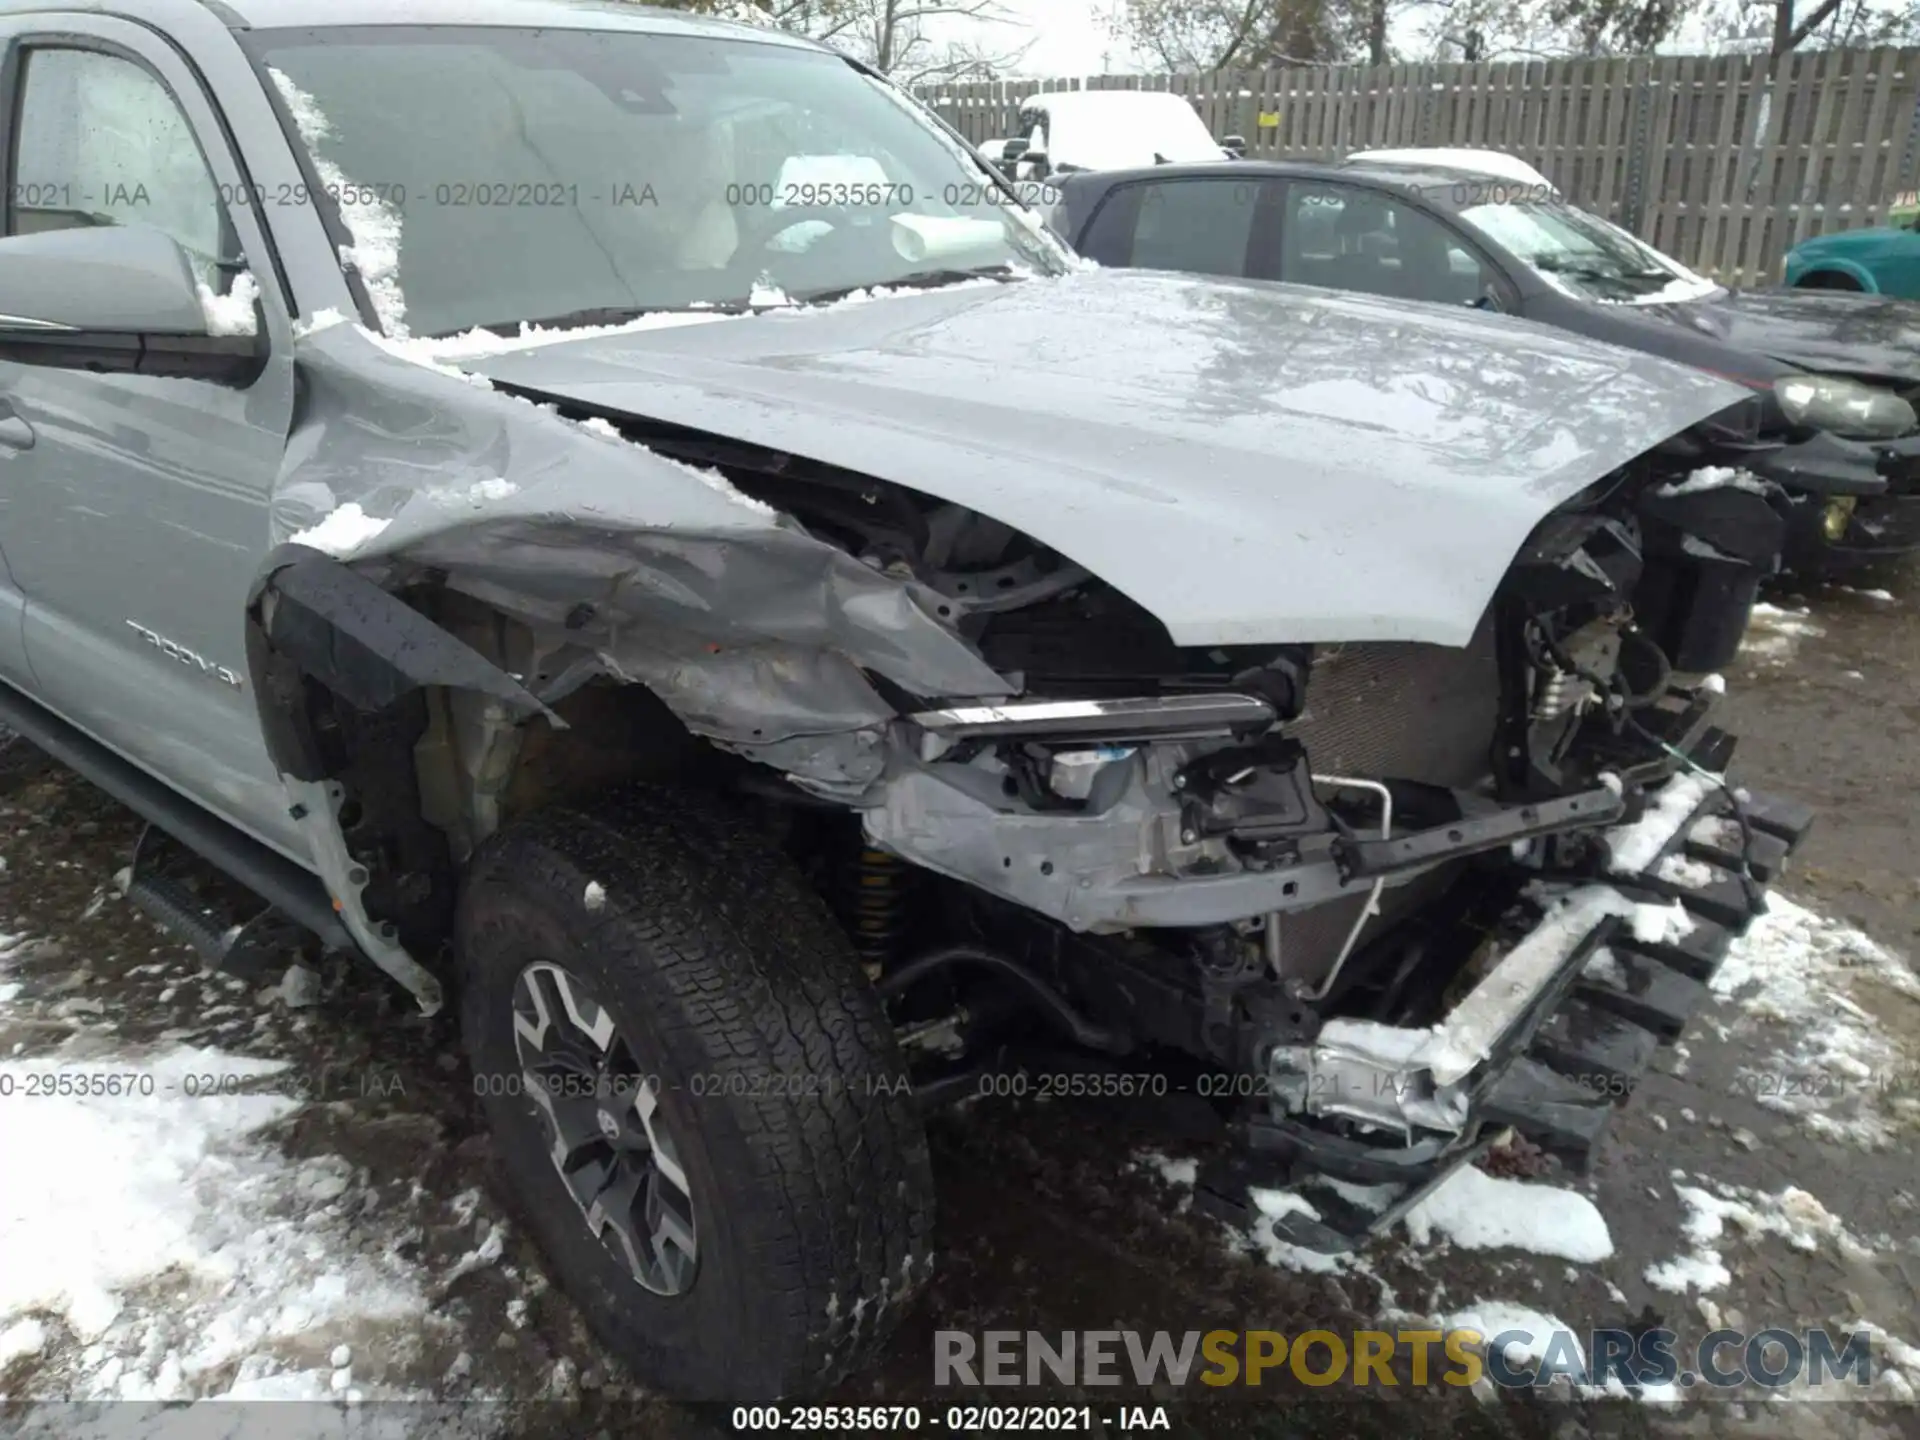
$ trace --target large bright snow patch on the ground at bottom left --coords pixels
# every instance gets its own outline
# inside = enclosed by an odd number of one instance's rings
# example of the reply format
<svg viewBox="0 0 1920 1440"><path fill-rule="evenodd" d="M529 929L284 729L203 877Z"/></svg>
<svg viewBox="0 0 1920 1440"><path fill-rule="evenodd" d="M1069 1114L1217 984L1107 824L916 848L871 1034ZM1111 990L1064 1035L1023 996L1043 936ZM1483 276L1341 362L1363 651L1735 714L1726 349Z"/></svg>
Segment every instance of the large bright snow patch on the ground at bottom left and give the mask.
<svg viewBox="0 0 1920 1440"><path fill-rule="evenodd" d="M0 973L33 945L0 937ZM15 1400L330 1402L307 1421L428 1398L403 1377L457 1334L442 1313L457 1275L436 1281L407 1258L419 1208L382 1202L338 1154L282 1148L311 1108L286 1062L131 1043L94 1002L42 987L12 981L0 1002L0 1388L23 1386ZM221 1008L246 1014L205 1012ZM497 1223L478 1250L472 1267L499 1260ZM182 1411L134 1415L115 1434L196 1425ZM490 1425L476 1409L444 1432Z"/></svg>

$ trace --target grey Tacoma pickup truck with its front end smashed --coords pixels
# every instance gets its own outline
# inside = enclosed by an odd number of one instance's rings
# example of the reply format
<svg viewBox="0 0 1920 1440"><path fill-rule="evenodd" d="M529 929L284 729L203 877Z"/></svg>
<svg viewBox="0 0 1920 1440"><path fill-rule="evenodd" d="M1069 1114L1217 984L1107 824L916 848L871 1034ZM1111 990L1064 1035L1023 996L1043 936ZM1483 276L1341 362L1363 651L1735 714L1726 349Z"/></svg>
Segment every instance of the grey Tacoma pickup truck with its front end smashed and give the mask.
<svg viewBox="0 0 1920 1440"><path fill-rule="evenodd" d="M1782 538L1732 384L1083 267L760 31L0 46L0 718L211 962L292 922L457 1010L649 1386L872 1356L924 1110L1023 1054L1206 1096L1221 1213L1344 1183L1323 1248L1509 1131L1582 1160L1809 824L1711 720Z"/></svg>

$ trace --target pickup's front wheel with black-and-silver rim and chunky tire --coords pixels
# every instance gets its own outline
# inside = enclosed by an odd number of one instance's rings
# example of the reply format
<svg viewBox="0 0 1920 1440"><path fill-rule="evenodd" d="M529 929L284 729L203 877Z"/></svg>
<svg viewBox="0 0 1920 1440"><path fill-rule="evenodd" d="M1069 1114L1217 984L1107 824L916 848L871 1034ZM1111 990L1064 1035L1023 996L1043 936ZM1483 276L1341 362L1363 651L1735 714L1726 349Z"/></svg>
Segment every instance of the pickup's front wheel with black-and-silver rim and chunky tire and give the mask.
<svg viewBox="0 0 1920 1440"><path fill-rule="evenodd" d="M793 864L714 799L639 791L482 847L461 1029L522 1223L647 1388L829 1386L931 1273L893 1031Z"/></svg>

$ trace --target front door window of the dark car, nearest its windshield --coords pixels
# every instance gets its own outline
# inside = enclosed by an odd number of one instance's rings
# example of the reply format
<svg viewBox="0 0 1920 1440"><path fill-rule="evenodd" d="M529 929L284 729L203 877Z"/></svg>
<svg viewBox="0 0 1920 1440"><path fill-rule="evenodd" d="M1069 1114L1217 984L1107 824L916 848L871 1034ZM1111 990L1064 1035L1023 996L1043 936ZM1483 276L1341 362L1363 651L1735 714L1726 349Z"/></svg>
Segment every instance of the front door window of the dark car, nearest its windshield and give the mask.
<svg viewBox="0 0 1920 1440"><path fill-rule="evenodd" d="M1440 221L1379 190L1292 182L1279 280L1471 305L1496 290L1478 253Z"/></svg>

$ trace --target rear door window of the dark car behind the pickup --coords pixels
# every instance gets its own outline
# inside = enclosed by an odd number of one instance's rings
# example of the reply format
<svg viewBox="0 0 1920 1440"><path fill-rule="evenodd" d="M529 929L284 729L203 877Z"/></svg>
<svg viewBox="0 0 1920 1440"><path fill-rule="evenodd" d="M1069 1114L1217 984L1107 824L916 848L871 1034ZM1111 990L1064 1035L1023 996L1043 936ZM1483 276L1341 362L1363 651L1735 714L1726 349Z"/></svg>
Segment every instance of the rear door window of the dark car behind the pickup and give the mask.
<svg viewBox="0 0 1920 1440"><path fill-rule="evenodd" d="M1246 275L1261 194L1258 180L1150 180L1116 192L1081 250L1102 265Z"/></svg>

